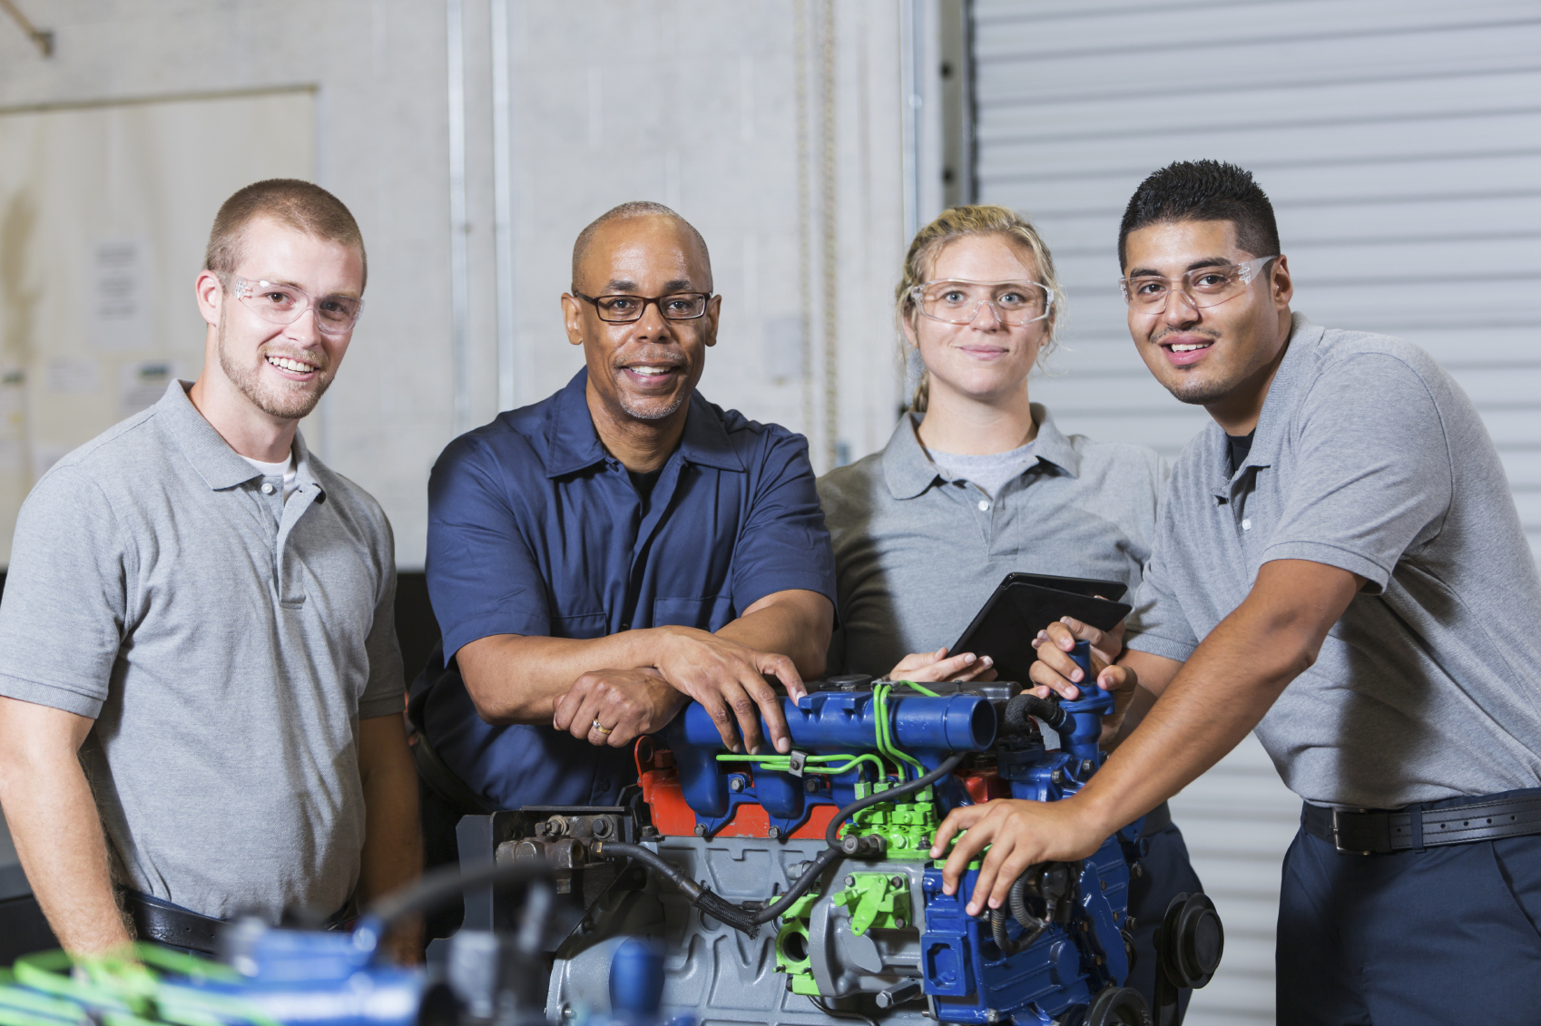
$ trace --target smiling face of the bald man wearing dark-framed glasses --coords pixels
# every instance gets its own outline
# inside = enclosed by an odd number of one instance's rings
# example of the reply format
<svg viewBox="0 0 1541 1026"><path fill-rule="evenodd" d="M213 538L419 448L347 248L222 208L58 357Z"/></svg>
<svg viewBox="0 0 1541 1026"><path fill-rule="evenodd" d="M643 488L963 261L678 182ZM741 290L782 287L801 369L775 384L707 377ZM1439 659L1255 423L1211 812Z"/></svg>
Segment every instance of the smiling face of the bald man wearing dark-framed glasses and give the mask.
<svg viewBox="0 0 1541 1026"><path fill-rule="evenodd" d="M710 293L712 268L689 228L672 217L619 217L601 225L582 256L573 288L586 296ZM676 414L717 344L721 297L690 320L669 320L647 303L630 324L599 319L592 302L562 296L567 339L582 345L589 393L616 422Z"/></svg>

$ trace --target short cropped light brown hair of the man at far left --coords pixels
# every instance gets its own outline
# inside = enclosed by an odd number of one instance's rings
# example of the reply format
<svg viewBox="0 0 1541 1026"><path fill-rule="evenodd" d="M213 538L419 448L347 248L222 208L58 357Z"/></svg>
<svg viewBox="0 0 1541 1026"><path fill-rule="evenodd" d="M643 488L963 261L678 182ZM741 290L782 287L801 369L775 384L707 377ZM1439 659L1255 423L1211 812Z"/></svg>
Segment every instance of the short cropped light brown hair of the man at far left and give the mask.
<svg viewBox="0 0 1541 1026"><path fill-rule="evenodd" d="M247 225L256 217L270 217L285 228L307 236L353 246L364 263L364 280L370 279L370 259L364 253L364 233L359 222L336 196L313 182L299 179L267 179L236 189L220 203L214 214L214 228L208 233L208 250L203 253L203 270L220 277L236 273L245 257Z"/></svg>

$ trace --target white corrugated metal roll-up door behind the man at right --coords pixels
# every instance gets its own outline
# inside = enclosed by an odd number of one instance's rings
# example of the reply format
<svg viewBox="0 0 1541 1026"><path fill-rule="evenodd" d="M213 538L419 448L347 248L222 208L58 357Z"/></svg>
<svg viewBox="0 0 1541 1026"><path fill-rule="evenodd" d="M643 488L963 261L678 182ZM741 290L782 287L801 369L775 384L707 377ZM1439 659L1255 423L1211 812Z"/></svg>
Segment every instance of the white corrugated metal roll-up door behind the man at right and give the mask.
<svg viewBox="0 0 1541 1026"><path fill-rule="evenodd" d="M1233 160L1273 199L1296 310L1416 342L1476 401L1541 553L1535 0L975 0L971 18L979 199L1039 223L1068 291L1060 376L1032 385L1060 427L1171 458L1205 422L1133 350L1117 225L1150 171ZM1190 1021L1271 1021L1298 801L1248 741L1174 806L1228 929Z"/></svg>

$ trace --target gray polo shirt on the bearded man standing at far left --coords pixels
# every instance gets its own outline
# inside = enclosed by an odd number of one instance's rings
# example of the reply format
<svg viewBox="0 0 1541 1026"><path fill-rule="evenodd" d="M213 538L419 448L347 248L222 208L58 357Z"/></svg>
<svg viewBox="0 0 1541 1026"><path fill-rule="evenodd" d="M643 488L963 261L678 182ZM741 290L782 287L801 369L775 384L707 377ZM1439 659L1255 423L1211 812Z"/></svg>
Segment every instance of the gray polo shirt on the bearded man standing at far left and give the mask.
<svg viewBox="0 0 1541 1026"><path fill-rule="evenodd" d="M173 382L37 482L0 602L0 695L96 719L114 875L205 915L347 901L358 721L402 712L390 524L294 456L285 502Z"/></svg>

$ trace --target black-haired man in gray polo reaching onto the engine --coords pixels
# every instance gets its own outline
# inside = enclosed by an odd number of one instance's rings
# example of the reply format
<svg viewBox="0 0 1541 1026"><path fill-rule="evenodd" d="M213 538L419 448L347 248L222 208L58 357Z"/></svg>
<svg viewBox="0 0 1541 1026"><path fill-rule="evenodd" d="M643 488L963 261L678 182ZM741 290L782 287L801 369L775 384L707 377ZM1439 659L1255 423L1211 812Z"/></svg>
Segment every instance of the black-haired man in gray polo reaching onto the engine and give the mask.
<svg viewBox="0 0 1541 1026"><path fill-rule="evenodd" d="M1291 314L1251 176L1157 171L1120 287L1157 381L1214 425L1173 470L1142 632L1096 686L1126 735L1074 798L954 812L971 907L1079 858L1256 729L1305 800L1281 1023L1533 1021L1541 1008L1541 578L1470 399L1407 342ZM1089 686L1056 625L1037 684ZM1128 724L1148 709L1139 729Z"/></svg>

